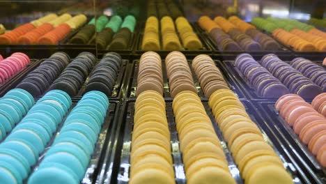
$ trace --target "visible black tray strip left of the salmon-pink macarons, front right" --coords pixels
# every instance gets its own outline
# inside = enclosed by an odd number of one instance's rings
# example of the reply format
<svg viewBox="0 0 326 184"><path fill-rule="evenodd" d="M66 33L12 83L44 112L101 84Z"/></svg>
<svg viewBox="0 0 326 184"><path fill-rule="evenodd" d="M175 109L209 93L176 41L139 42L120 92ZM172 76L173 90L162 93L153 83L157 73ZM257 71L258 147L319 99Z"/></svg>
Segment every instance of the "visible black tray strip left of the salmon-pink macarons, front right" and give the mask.
<svg viewBox="0 0 326 184"><path fill-rule="evenodd" d="M311 183L326 183L326 168L322 167L309 148L302 143L298 135L295 134L290 125L274 108L275 101L254 101L257 108L263 114L264 122L282 140L289 154L295 158Z"/></svg>

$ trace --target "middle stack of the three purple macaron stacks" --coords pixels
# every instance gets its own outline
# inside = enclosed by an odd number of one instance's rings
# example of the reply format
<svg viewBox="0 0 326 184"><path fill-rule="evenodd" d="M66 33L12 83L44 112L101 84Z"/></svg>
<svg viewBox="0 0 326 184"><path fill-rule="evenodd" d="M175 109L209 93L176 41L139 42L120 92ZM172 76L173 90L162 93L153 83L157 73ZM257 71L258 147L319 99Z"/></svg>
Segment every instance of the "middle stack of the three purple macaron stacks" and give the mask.
<svg viewBox="0 0 326 184"><path fill-rule="evenodd" d="M301 72L284 63L274 54L267 54L261 59L261 65L269 70L288 87L290 93L300 95L302 98L313 99L322 93L320 86L313 84L310 79L304 77Z"/></svg>

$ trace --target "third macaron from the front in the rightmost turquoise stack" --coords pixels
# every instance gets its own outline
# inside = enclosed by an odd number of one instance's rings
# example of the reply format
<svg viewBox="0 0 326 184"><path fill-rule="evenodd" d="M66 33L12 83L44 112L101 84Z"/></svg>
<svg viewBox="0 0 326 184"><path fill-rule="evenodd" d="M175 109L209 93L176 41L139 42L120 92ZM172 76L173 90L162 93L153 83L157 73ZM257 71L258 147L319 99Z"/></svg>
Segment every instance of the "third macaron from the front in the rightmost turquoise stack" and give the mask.
<svg viewBox="0 0 326 184"><path fill-rule="evenodd" d="M79 148L79 146L77 146L76 144L72 143L59 143L52 146L49 151L47 151L47 153L45 154L45 157L59 152L68 152L72 155L75 155L75 157L78 158L84 168L87 167L88 162L90 160L89 156L86 155L84 150Z"/></svg>

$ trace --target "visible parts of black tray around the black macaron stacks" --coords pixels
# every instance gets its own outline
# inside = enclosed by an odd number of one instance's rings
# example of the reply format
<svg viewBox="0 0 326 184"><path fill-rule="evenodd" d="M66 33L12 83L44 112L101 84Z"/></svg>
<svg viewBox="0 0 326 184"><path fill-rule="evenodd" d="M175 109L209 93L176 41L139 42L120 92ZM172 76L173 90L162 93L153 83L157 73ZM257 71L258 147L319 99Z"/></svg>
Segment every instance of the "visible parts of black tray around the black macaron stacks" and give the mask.
<svg viewBox="0 0 326 184"><path fill-rule="evenodd" d="M0 91L0 96L4 95L7 91L9 91L10 89L15 88L18 84L20 84L20 82L22 82L24 77L26 77L26 75L28 75L29 72L33 71L33 69L36 69L40 65L40 63L42 63L42 61L45 61L45 59L42 59L41 61L38 61L38 63L36 65L34 65L33 68L31 68L28 72L24 72L24 75L20 75L20 77L16 77L15 80L13 82L11 82L10 85L6 85L6 90ZM98 62L99 61L100 60L98 60ZM111 96L109 96L110 100L121 100L122 95L123 95L123 89L124 89L123 84L124 84L124 81L125 81L125 77L127 76L127 70L128 70L128 60L123 59L123 65L121 66L121 68L120 68L120 70L118 72L118 77L116 79L116 84L114 84L114 89L111 92ZM85 87L88 84L88 80L89 80L89 76L86 78L84 84L79 89L77 95L71 97L72 100L80 100L81 99L82 95L84 94ZM49 89L45 90L45 92L43 94L47 93L47 91L49 91ZM34 98L40 99L40 98L42 98L42 95L35 96Z"/></svg>

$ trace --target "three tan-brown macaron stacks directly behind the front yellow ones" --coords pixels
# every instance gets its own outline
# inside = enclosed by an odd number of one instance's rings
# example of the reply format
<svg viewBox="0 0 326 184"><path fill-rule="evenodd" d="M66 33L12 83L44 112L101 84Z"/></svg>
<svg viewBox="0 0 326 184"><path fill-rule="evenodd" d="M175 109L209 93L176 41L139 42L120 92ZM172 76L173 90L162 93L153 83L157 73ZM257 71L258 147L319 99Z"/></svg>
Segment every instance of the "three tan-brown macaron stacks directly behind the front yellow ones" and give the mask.
<svg viewBox="0 0 326 184"><path fill-rule="evenodd" d="M165 59L165 68L172 97L175 97L180 91L198 93L192 70L184 54L170 52ZM199 79L205 97L209 98L218 89L229 89L228 82L210 56L205 54L196 56L192 61L192 68ZM137 75L137 95L147 90L157 91L163 95L163 79L160 55L150 51L142 54Z"/></svg>

